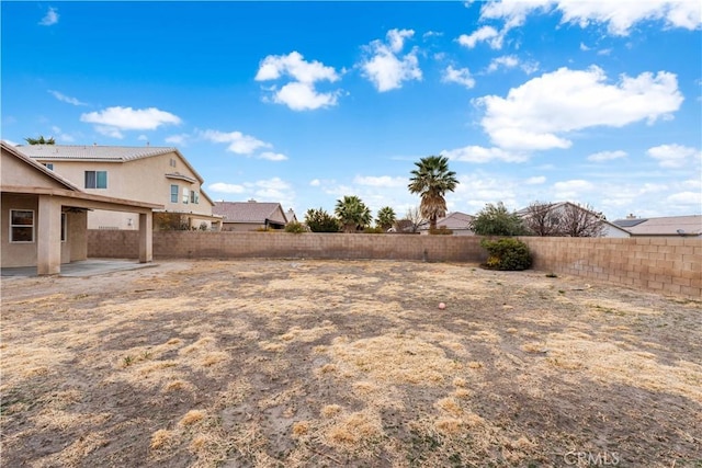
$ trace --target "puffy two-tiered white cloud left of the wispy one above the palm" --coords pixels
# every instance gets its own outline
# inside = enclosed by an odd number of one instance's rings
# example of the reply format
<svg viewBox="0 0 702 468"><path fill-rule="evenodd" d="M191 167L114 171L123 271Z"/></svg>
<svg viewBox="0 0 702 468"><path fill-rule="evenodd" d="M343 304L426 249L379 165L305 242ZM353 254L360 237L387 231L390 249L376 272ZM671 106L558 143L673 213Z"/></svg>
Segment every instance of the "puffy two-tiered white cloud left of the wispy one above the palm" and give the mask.
<svg viewBox="0 0 702 468"><path fill-rule="evenodd" d="M317 60L307 61L298 52L269 55L261 61L254 79L270 81L283 77L291 78L292 81L281 88L273 85L269 89L272 92L272 101L276 104L287 105L293 111L312 111L337 105L340 90L319 92L316 89L318 81L339 80L333 67L325 66Z"/></svg>

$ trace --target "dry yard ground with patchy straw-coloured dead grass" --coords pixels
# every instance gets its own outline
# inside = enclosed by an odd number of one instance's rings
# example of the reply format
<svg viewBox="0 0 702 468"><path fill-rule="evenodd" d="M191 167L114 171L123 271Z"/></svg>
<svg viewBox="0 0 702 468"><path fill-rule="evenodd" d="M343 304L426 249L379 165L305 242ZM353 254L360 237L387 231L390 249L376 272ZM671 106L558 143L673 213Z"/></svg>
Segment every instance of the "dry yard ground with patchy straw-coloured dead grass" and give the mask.
<svg viewBox="0 0 702 468"><path fill-rule="evenodd" d="M586 283L303 260L3 279L2 466L701 467L702 303Z"/></svg>

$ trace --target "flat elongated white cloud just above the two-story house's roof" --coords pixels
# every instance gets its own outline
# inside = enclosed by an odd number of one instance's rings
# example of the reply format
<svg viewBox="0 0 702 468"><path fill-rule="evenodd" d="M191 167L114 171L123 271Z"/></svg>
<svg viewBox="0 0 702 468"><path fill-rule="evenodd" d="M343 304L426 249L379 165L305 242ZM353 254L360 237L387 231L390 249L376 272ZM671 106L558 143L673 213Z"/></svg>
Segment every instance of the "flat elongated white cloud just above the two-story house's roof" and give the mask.
<svg viewBox="0 0 702 468"><path fill-rule="evenodd" d="M80 116L81 122L95 124L95 129L113 138L123 138L122 130L155 130L162 125L180 125L181 119L156 107L107 107Z"/></svg>

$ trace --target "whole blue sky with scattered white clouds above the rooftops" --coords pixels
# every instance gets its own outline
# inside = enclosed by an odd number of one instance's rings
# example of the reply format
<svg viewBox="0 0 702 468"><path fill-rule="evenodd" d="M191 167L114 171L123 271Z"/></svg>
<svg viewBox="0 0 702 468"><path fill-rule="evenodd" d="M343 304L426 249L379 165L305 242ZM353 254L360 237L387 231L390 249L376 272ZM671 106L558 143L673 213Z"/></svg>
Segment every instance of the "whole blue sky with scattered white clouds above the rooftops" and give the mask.
<svg viewBox="0 0 702 468"><path fill-rule="evenodd" d="M216 201L401 217L414 162L450 210L702 213L702 4L7 2L2 139L174 146Z"/></svg>

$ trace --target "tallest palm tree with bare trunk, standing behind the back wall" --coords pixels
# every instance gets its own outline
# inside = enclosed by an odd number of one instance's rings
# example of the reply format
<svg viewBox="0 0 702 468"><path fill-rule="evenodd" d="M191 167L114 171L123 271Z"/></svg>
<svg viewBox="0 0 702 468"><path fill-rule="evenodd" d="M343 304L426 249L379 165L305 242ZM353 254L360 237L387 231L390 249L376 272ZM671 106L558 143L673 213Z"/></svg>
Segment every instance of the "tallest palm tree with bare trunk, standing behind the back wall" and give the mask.
<svg viewBox="0 0 702 468"><path fill-rule="evenodd" d="M410 193L421 196L419 210L429 219L429 229L437 229L437 218L445 216L446 192L453 192L458 185L456 173L449 170L449 158L442 156L428 156L415 162L417 169L411 171L409 180Z"/></svg>

